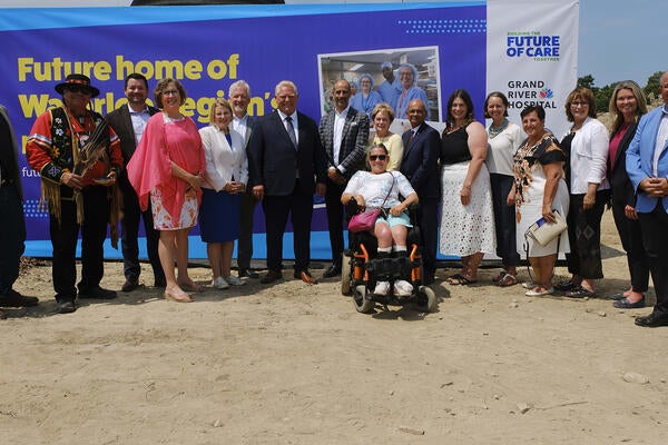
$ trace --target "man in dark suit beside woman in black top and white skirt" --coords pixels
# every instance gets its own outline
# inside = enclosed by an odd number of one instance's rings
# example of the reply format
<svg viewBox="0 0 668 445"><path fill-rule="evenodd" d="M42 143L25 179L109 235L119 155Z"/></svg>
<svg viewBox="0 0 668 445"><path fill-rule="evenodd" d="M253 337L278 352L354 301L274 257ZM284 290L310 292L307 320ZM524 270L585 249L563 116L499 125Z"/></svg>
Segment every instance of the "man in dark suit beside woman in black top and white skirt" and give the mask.
<svg viewBox="0 0 668 445"><path fill-rule="evenodd" d="M422 234L422 263L424 283L434 281L436 271L436 244L439 241L438 206L441 197L439 181L439 131L424 122L426 106L421 99L409 102L406 115L411 129L402 135L404 144L401 172L411 181L420 198L418 225Z"/></svg>

